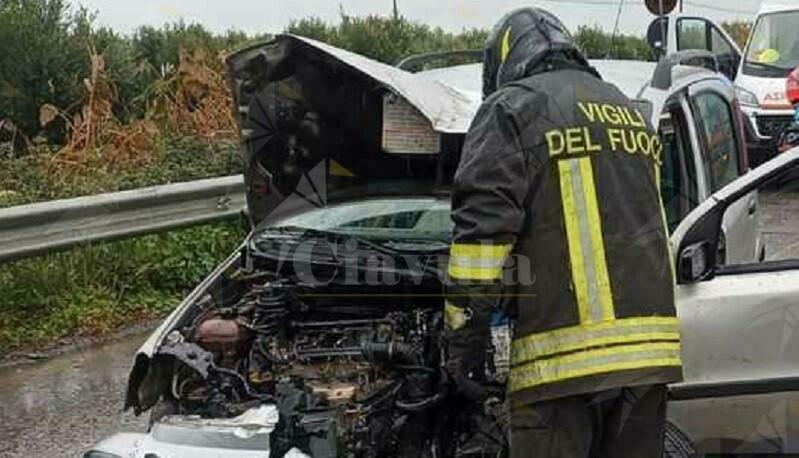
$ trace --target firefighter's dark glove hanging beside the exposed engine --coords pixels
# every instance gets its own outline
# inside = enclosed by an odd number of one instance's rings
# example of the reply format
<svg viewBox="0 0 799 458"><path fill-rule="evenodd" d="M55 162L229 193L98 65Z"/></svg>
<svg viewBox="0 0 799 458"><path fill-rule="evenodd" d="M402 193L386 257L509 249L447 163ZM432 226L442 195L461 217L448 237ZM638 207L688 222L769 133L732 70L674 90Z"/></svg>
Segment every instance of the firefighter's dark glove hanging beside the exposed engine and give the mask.
<svg viewBox="0 0 799 458"><path fill-rule="evenodd" d="M480 383L484 379L485 356L491 342L488 318L488 313L446 305L445 376L451 388L478 403L490 394Z"/></svg>

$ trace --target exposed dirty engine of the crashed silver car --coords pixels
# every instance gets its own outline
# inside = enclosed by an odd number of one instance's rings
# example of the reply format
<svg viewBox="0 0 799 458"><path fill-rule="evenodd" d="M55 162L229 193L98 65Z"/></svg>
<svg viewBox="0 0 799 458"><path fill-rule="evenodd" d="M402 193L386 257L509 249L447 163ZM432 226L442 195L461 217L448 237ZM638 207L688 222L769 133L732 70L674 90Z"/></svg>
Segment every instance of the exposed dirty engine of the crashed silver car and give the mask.
<svg viewBox="0 0 799 458"><path fill-rule="evenodd" d="M172 375L154 415L274 404L276 458L504 456L502 396L471 405L443 383L437 280L318 287L238 270L214 291L159 349Z"/></svg>

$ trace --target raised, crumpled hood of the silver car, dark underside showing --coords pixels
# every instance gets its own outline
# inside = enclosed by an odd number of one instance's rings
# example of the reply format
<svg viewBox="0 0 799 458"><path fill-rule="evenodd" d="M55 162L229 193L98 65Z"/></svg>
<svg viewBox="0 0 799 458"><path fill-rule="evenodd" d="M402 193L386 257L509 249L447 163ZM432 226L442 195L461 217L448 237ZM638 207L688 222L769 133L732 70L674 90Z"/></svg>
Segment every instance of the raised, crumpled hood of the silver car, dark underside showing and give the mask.
<svg viewBox="0 0 799 458"><path fill-rule="evenodd" d="M281 35L228 59L254 223L299 194L444 187L476 94L311 39ZM284 205L283 205L284 206Z"/></svg>

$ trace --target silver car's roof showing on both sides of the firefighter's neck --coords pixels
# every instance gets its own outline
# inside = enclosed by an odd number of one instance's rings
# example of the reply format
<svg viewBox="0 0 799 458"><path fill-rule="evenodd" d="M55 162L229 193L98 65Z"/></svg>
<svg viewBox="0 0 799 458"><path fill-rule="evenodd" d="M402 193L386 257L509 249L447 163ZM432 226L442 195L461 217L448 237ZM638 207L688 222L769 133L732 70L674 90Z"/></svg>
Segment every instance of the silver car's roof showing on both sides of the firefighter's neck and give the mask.
<svg viewBox="0 0 799 458"><path fill-rule="evenodd" d="M641 89L652 78L657 64L634 60L592 60L593 65L605 81L615 84L629 98L636 98ZM482 93L482 64L457 65L417 73L452 86L471 95Z"/></svg>

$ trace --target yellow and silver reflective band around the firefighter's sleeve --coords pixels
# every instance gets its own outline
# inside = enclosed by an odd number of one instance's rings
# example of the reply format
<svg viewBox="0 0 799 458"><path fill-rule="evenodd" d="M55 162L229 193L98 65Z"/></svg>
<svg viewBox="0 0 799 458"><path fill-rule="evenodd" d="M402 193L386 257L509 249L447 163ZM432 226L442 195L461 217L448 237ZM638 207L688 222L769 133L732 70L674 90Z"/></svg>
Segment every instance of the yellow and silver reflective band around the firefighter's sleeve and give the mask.
<svg viewBox="0 0 799 458"><path fill-rule="evenodd" d="M455 243L450 250L449 275L464 280L499 280L513 247L509 244Z"/></svg>

